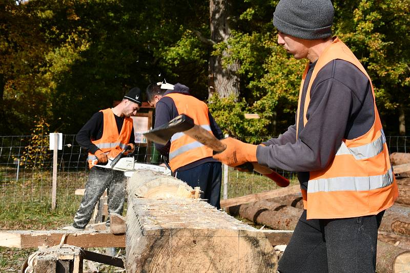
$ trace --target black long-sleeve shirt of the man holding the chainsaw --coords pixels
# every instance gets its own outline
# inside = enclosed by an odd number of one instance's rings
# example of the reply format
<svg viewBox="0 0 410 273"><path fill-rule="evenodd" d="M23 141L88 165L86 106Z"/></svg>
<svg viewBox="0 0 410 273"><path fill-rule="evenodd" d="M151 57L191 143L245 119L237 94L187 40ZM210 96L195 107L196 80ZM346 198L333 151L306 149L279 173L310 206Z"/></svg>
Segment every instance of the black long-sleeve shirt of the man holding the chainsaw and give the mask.
<svg viewBox="0 0 410 273"><path fill-rule="evenodd" d="M117 124L118 133L121 132L122 124L124 124L124 117L118 117L114 114L115 122ZM103 112L96 112L89 121L81 128L76 136L77 143L87 149L91 153L95 153L98 147L91 141L99 140L103 137L104 130L104 114ZM131 132L131 137L128 143L134 143L134 128Z"/></svg>

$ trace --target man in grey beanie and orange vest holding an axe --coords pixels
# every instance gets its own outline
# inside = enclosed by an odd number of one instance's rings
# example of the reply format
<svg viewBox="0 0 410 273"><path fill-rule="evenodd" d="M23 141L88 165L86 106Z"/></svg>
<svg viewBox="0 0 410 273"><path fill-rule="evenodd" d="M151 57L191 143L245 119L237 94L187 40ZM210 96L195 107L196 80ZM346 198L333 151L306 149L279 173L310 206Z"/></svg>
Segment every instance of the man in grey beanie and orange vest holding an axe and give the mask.
<svg viewBox="0 0 410 273"><path fill-rule="evenodd" d="M330 0L280 0L278 43L309 60L296 122L251 145L228 138L214 158L298 172L304 210L278 272L375 272L377 230L398 189L373 84L360 61L332 37ZM235 161L232 161L235 158Z"/></svg>

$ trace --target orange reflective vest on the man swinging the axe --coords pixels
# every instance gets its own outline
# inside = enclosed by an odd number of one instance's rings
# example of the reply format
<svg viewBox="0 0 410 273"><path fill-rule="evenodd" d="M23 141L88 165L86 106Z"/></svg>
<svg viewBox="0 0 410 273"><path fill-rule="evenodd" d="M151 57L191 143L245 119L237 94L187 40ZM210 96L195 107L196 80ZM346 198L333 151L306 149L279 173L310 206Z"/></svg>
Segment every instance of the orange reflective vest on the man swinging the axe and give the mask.
<svg viewBox="0 0 410 273"><path fill-rule="evenodd" d="M304 101L304 126L309 122L306 119L306 112L312 83L322 67L335 59L348 61L363 72L371 83L374 98L373 84L364 67L352 51L336 37L320 55L313 70ZM303 82L308 70L309 65L306 65L300 85L296 135L299 129ZM372 128L356 139L343 139L330 165L323 170L310 172L308 190L302 189L307 219L376 215L393 205L398 196L398 189L376 102L374 108L375 121Z"/></svg>

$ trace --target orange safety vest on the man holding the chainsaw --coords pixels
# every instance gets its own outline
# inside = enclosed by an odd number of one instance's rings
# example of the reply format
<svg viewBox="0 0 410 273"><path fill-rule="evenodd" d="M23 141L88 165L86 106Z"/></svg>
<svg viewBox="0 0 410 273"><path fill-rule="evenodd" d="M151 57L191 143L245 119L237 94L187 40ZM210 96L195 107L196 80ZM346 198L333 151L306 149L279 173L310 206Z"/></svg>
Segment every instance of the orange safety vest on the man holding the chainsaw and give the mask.
<svg viewBox="0 0 410 273"><path fill-rule="evenodd" d="M91 142L107 154L108 158L114 158L127 146L130 141L133 122L131 118L125 117L121 132L118 134L117 123L115 122L112 109L108 108L100 110L100 112L103 112L104 115L103 135L99 140L91 140ZM90 169L94 166L92 161L96 159L97 156L90 152L88 153L88 166Z"/></svg>

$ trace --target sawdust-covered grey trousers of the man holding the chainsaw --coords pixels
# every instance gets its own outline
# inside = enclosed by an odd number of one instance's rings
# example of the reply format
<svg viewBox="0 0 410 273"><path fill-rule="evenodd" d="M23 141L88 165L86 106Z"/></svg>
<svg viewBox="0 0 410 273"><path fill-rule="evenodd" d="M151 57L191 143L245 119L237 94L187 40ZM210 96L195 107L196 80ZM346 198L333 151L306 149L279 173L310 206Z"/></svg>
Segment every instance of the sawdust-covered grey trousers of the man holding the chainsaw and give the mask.
<svg viewBox="0 0 410 273"><path fill-rule="evenodd" d="M107 189L108 213L122 214L125 201L126 178L124 172L92 167L86 191L78 208L73 226L76 229L84 229L91 219L96 203ZM109 226L109 221L107 221Z"/></svg>

